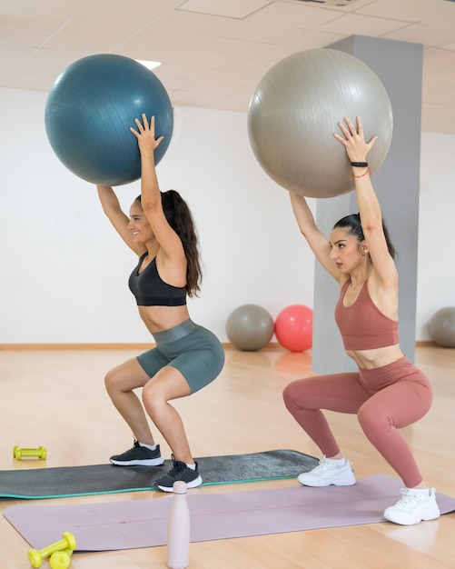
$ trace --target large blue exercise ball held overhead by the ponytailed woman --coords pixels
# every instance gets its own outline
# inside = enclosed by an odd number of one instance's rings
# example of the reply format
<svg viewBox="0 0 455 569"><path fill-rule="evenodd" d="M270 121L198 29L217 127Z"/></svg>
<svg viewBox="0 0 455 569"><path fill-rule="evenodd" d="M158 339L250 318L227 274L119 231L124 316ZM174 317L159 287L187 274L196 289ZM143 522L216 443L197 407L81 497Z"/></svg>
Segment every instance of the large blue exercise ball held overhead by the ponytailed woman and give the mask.
<svg viewBox="0 0 455 569"><path fill-rule="evenodd" d="M163 158L173 134L173 106L161 81L124 55L89 55L69 65L45 104L45 131L60 162L87 182L124 185L141 177L134 118L155 117Z"/></svg>

